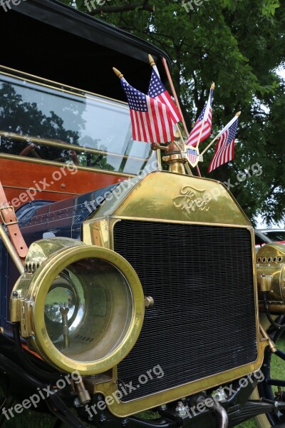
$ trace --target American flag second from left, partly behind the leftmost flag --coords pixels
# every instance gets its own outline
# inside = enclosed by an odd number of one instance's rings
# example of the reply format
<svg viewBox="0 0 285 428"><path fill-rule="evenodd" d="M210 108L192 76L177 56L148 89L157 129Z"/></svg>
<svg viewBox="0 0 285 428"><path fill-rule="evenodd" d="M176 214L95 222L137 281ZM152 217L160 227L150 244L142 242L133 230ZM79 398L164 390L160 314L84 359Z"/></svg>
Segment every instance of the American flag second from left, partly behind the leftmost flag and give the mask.
<svg viewBox="0 0 285 428"><path fill-rule="evenodd" d="M152 98L155 98L157 101L166 104L167 107L170 108L173 123L177 123L182 120L180 112L175 106L175 103L172 101L170 93L166 90L165 86L160 80L160 73L157 70L157 66L152 66L148 95Z"/></svg>

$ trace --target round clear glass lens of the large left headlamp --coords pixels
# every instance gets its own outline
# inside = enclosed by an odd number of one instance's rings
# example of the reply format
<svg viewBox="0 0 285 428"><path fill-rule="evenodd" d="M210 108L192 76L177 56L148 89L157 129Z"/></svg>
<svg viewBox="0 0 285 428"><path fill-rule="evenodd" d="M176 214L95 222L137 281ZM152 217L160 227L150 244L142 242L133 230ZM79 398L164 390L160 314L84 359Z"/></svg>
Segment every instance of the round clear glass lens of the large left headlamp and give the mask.
<svg viewBox="0 0 285 428"><path fill-rule="evenodd" d="M123 340L133 315L128 282L117 267L90 258L68 265L53 280L45 301L46 331L73 360L106 357ZM100 340L102 337L112 340Z"/></svg>

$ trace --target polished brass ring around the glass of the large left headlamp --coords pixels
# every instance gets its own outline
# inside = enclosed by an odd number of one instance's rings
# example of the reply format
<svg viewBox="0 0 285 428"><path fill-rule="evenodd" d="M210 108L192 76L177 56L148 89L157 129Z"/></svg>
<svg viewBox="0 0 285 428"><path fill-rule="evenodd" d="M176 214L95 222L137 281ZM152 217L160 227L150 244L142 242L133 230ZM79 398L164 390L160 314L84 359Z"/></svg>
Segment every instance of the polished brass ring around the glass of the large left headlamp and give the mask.
<svg viewBox="0 0 285 428"><path fill-rule="evenodd" d="M125 277L133 297L133 317L128 332L122 342L110 355L100 360L80 362L66 357L66 355L63 355L53 345L46 330L44 305L51 281L66 267L66 260L68 259L68 265L71 265L78 260L86 258L96 258L110 263ZM145 301L140 280L130 263L121 255L108 248L96 247L95 245L81 245L56 252L45 260L33 275L28 294L30 295L30 299L34 301L33 320L35 321L35 335L32 339L33 345L35 345L36 350L44 360L64 372L74 372L77 370L83 375L105 372L118 365L118 362L128 355L140 335L145 312Z"/></svg>

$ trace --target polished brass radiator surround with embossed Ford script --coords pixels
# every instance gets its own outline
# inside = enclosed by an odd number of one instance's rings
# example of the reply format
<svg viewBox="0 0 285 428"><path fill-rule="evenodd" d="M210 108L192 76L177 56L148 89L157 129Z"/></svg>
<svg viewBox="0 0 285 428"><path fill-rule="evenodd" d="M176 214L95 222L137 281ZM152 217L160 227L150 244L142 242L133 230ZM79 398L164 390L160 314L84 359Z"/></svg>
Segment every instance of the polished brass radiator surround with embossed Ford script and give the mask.
<svg viewBox="0 0 285 428"><path fill-rule="evenodd" d="M242 209L224 185L214 180L187 175L155 171L144 178L134 178L121 183L102 207L83 224L85 243L114 249L113 230L121 220L147 221L184 225L214 225L248 230L252 239L252 285L254 287L255 328L257 332L257 360L232 370L204 377L194 382L141 397L129 402L113 400L108 404L110 412L125 417L136 412L172 402L204 389L231 382L256 370L263 360L266 341L259 334L258 298L255 267L254 231ZM134 237L135 239L135 237ZM190 253L195 248L190 248ZM165 260L167 263L169 260ZM221 285L224 287L225 285ZM237 287L239 284L237 282ZM195 327L193 327L195 328ZM179 357L179 356L177 356ZM150 367L151 368L151 367ZM163 367L162 367L163 368ZM118 369L113 368L112 379L92 382L93 392L105 397L117 390Z"/></svg>

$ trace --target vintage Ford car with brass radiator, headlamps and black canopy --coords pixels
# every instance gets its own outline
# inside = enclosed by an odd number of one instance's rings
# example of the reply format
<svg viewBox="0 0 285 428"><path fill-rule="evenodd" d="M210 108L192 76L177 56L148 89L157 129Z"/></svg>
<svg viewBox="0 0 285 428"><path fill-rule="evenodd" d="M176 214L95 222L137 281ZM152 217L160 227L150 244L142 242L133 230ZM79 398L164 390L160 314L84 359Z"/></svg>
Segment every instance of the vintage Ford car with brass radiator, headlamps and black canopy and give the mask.
<svg viewBox="0 0 285 428"><path fill-rule="evenodd" d="M162 170L131 138L112 66L147 91L147 54L162 79L167 55L51 0L0 10L0 32L2 421L284 427L270 374L285 359L284 245L256 255L222 183L186 174L174 144Z"/></svg>

